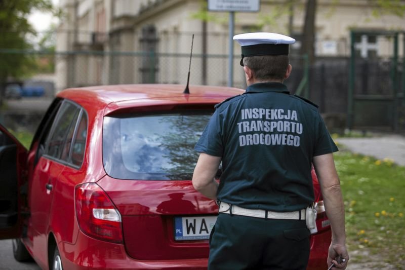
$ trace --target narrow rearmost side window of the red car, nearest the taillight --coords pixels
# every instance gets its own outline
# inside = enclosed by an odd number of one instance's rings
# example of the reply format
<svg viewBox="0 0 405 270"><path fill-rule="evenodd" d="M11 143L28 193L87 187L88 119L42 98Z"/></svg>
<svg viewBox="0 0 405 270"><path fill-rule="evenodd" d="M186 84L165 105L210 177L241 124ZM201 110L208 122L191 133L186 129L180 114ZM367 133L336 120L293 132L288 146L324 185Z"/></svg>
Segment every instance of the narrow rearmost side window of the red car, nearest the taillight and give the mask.
<svg viewBox="0 0 405 270"><path fill-rule="evenodd" d="M77 126L77 131L72 144L73 147L71 149L71 163L75 166L82 165L86 149L86 138L87 115L83 112Z"/></svg>

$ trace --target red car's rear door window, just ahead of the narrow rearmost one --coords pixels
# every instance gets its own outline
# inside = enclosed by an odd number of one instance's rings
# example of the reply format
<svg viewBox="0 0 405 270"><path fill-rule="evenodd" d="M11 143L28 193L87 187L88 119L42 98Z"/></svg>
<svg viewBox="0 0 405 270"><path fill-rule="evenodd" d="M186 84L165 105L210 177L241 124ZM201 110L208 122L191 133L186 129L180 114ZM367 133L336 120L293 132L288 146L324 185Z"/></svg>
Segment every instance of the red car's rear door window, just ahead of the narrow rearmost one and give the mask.
<svg viewBox="0 0 405 270"><path fill-rule="evenodd" d="M70 102L64 102L61 105L51 133L45 143L46 155L61 159L65 143L67 141L71 142L79 111L79 107Z"/></svg>

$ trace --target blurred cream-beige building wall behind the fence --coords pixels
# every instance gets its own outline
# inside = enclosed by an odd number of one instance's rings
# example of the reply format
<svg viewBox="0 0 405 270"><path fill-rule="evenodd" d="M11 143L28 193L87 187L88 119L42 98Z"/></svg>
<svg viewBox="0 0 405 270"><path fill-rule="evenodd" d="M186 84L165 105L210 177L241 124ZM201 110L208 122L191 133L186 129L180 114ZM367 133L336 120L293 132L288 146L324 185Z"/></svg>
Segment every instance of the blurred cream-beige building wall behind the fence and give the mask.
<svg viewBox="0 0 405 270"><path fill-rule="evenodd" d="M150 82L185 84L192 34L191 82L208 85L227 83L229 14L208 12L211 19L206 23L204 33L204 22L196 19L195 15L201 13L205 0L62 0L60 3L67 16L59 26L63 31L58 34L57 50L97 49L108 54L80 55L77 59L70 55L58 56L58 90L72 86L73 82L94 85L145 83L150 79ZM296 35L299 40L306 1L299 1L292 10L286 3L287 0L262 0L259 13L236 13L235 34L254 30L290 34L292 29L292 36ZM367 0L318 1L315 43L318 57L349 56L352 28L404 30L403 17L392 14L376 17L376 7L369 3ZM147 43L142 36L142 31L151 26L157 38L156 48L153 49L150 44L145 45ZM101 47L93 46L92 33L103 31L104 36L97 35L101 41L98 40L96 45ZM392 56L391 37L379 36L374 42L378 47L375 49L377 56ZM243 87L244 74L238 64L240 46L235 42L233 46L234 85ZM300 42L297 42L293 47L298 49L299 46ZM372 55L371 51L368 57ZM399 55L403 55L402 40L399 42Z"/></svg>

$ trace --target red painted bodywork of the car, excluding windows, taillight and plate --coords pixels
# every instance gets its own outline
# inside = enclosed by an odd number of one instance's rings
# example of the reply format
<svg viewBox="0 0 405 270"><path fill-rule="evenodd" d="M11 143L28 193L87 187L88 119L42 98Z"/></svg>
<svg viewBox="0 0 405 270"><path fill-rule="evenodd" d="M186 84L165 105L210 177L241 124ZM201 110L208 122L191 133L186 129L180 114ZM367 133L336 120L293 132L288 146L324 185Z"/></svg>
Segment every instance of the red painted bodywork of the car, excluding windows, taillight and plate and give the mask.
<svg viewBox="0 0 405 270"><path fill-rule="evenodd" d="M35 161L38 141L33 141L28 154L23 147L18 148L19 185L28 181L27 207L31 212L25 220L27 233L22 241L39 266L48 269L50 249L55 243L65 269L207 267L208 240L175 241L174 218L216 215L218 207L214 201L196 192L191 179L115 179L107 175L103 166L105 115L193 107L213 109L214 104L245 92L209 86L190 86L191 94L183 94L183 90L184 86L179 85L119 85L58 93L58 99L73 101L84 109L88 121L86 148L79 167L48 157ZM318 198L319 184L314 173L313 177ZM82 183L96 183L111 200L121 216L124 244L98 240L82 232L74 198L75 187ZM46 188L48 184L52 185L51 190ZM21 214L19 217L14 228L0 228L1 238L21 236L23 220ZM308 269L327 268L331 239L327 221L325 214L317 220L319 233L311 236Z"/></svg>

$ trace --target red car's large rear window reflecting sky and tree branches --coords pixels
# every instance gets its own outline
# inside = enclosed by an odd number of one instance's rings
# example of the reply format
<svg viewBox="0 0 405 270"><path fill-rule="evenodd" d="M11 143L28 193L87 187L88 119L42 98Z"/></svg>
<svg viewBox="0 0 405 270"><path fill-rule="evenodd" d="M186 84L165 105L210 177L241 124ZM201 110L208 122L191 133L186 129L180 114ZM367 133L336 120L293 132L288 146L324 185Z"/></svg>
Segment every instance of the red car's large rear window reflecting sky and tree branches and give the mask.
<svg viewBox="0 0 405 270"><path fill-rule="evenodd" d="M194 145L213 111L104 117L103 163L108 175L135 180L191 180Z"/></svg>

